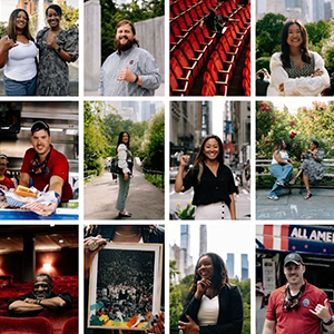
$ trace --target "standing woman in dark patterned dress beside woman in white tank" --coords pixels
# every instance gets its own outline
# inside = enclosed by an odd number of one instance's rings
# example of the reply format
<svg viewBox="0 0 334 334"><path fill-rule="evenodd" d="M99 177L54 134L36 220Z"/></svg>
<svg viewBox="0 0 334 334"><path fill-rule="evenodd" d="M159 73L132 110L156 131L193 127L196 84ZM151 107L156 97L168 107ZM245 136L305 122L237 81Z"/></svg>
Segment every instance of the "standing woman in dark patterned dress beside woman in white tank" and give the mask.
<svg viewBox="0 0 334 334"><path fill-rule="evenodd" d="M62 30L61 8L50 4L46 10L50 28L37 33L39 65L37 78L38 96L69 96L70 82L67 62L78 59L78 30L76 27Z"/></svg>

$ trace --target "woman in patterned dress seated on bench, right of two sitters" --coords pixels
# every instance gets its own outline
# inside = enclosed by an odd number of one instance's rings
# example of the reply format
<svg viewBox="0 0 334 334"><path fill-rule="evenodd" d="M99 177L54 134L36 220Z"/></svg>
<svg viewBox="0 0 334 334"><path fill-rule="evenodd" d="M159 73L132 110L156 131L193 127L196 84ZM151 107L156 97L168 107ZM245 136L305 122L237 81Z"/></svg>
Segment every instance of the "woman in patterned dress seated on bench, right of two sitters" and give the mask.
<svg viewBox="0 0 334 334"><path fill-rule="evenodd" d="M310 144L310 149L302 154L302 165L297 175L289 181L291 185L294 185L299 176L303 177L303 181L306 187L305 199L308 199L312 196L310 190L310 183L315 183L321 180L324 177L324 166L322 160L325 157L323 149L318 148L318 143L312 140Z"/></svg>

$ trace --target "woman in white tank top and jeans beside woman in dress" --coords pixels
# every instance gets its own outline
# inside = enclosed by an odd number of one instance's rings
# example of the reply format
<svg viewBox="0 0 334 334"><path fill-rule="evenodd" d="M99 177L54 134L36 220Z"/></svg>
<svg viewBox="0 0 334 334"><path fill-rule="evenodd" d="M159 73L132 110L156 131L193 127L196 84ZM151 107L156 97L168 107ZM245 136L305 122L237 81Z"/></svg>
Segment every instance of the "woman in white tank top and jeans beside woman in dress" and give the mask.
<svg viewBox="0 0 334 334"><path fill-rule="evenodd" d="M16 9L9 18L7 36L0 40L0 67L4 66L7 96L32 96L36 91L38 49L29 32L29 16Z"/></svg>

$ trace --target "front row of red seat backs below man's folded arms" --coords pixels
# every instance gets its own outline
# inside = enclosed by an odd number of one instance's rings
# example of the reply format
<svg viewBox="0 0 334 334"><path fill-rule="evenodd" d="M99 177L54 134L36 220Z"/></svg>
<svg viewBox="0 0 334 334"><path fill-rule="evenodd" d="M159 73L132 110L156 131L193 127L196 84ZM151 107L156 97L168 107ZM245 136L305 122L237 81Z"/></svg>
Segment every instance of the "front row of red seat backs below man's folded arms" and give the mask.
<svg viewBox="0 0 334 334"><path fill-rule="evenodd" d="M52 323L42 316L8 317L0 316L1 334L55 334ZM78 316L69 318L61 334L78 334Z"/></svg>

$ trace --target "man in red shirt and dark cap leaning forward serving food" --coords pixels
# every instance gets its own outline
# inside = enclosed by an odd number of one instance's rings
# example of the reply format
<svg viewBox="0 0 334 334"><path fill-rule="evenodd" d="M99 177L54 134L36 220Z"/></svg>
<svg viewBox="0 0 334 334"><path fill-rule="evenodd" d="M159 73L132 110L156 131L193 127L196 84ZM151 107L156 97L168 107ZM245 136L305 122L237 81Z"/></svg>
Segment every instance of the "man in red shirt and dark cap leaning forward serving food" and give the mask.
<svg viewBox="0 0 334 334"><path fill-rule="evenodd" d="M68 183L68 160L53 148L51 139L49 126L42 120L36 121L31 127L32 147L26 151L21 167L21 186L32 185L40 191L48 186L48 191L55 191L55 203L26 206L41 216L49 216L61 202L72 198L72 188Z"/></svg>

